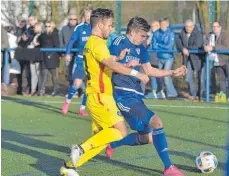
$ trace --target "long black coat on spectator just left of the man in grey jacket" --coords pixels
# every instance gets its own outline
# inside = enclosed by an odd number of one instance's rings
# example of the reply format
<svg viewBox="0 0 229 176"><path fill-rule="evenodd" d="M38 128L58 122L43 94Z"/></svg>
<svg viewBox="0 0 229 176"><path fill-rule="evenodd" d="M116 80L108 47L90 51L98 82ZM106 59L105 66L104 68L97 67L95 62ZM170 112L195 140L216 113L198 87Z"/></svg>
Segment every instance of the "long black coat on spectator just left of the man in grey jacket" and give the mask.
<svg viewBox="0 0 229 176"><path fill-rule="evenodd" d="M41 48L59 48L59 37L57 29L50 34L47 32L40 35ZM59 54L56 52L42 52L43 53L43 69L55 69L59 67Z"/></svg>

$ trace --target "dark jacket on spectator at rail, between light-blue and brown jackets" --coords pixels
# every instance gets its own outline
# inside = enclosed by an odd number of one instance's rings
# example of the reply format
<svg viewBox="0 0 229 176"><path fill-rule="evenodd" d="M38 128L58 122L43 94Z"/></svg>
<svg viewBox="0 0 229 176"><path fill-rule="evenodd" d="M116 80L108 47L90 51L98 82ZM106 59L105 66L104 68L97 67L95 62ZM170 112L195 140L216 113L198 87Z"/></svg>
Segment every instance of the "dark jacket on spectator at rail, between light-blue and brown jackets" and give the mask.
<svg viewBox="0 0 229 176"><path fill-rule="evenodd" d="M187 49L203 49L203 36L201 32L195 28L193 29L189 39L187 37L187 33L185 28L179 34L176 47L179 51L182 52L183 48ZM187 66L187 62L191 62L192 69L195 71L199 71L204 65L204 55L203 54L190 54L189 56L183 55L183 64Z"/></svg>

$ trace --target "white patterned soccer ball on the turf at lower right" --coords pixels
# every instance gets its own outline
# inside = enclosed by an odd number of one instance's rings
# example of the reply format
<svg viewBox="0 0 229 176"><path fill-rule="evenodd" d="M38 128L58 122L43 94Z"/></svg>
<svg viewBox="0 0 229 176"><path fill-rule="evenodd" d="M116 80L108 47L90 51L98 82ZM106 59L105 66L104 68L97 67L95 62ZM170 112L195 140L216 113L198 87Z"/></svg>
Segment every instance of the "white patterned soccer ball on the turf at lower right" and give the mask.
<svg viewBox="0 0 229 176"><path fill-rule="evenodd" d="M218 165L218 161L215 155L211 152L201 152L196 157L196 166L202 173L213 172Z"/></svg>

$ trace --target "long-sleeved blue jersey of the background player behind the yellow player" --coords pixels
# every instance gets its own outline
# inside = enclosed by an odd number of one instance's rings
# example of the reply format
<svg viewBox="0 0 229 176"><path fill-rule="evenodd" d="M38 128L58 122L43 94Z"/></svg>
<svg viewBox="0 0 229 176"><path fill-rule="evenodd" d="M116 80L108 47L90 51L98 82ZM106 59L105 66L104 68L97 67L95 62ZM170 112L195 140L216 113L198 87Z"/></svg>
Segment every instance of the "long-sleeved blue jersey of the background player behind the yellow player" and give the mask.
<svg viewBox="0 0 229 176"><path fill-rule="evenodd" d="M87 23L80 23L77 25L74 29L74 32L72 33L72 36L68 42L67 48L66 48L66 54L71 53L71 49L73 48L73 45L75 42L77 42L77 48L79 48L78 52L78 58L83 61L83 49L84 45L86 44L89 36L91 35L91 25Z"/></svg>

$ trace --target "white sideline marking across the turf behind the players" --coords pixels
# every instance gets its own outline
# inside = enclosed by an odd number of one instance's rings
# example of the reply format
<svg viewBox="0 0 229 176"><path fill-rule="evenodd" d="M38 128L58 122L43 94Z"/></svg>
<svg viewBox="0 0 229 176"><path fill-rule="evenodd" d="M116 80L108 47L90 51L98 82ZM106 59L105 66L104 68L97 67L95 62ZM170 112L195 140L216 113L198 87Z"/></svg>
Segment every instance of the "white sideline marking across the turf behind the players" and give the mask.
<svg viewBox="0 0 229 176"><path fill-rule="evenodd" d="M11 100L1 100L2 102L12 102ZM63 101L47 101L47 100L33 100L33 101L28 101L28 100L14 100L13 102L19 102L19 103L53 103L53 104L62 104ZM71 104L81 104L81 102L71 102ZM165 104L160 104L160 105L152 105L152 104L146 104L149 107L167 107L167 108L187 108L187 109L229 109L229 107L220 107L220 106L182 106L182 105L165 105Z"/></svg>

